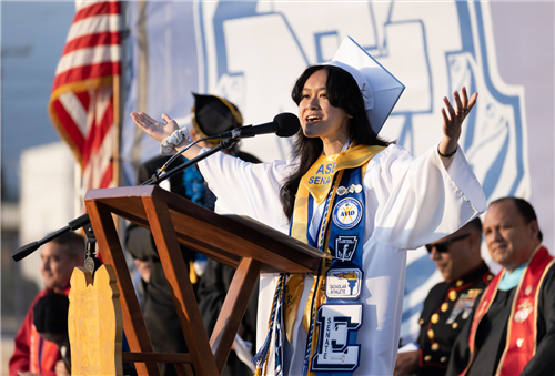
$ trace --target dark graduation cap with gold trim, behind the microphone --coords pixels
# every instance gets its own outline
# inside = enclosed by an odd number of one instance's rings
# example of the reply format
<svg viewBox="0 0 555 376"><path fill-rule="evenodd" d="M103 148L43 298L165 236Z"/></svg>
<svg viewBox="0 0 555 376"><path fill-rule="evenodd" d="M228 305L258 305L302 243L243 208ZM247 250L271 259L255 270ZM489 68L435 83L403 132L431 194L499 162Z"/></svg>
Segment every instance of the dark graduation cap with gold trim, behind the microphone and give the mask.
<svg viewBox="0 0 555 376"><path fill-rule="evenodd" d="M202 138L216 135L243 125L238 106L216 95L193 93L191 122ZM218 142L218 140L212 140Z"/></svg>

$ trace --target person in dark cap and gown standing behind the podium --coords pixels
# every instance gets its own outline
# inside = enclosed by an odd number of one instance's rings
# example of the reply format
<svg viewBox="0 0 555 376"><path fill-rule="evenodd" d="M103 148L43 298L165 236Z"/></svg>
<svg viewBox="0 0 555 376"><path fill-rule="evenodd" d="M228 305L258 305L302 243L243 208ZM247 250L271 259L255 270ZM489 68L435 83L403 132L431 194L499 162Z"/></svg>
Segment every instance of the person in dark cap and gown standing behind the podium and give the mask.
<svg viewBox="0 0 555 376"><path fill-rule="evenodd" d="M194 141L206 136L218 135L243 125L241 112L233 103L216 95L201 95L194 93L193 95L194 106L191 110L191 124L189 131ZM220 140L211 140L210 142L203 141L199 144L202 148L213 148L219 142ZM225 150L224 152L248 162L260 162L253 155L241 152L239 146ZM160 155L143 163L138 172L138 184L152 177L169 159L170 156ZM169 166L168 171L184 162L185 159L180 155ZM214 210L215 196L209 190L208 184L204 182L196 166L191 166L171 176L169 181L163 181L160 185L198 205ZM129 225L125 235L125 247L135 258L135 262L138 261L138 265L143 271L142 274L148 275L150 278L145 281L145 278L142 277L140 284L135 284L135 287L139 286L139 292L143 294L140 302L154 352L186 352L183 332L179 323L179 317L173 305L172 295L152 233L138 225ZM193 284L196 299L201 307L201 314L210 336L223 304L225 293L234 275L234 270L221 265L218 262L206 261L205 256L196 254L184 246L181 246L181 252L185 264L190 266L189 277ZM208 282L204 283L201 292L198 286L199 281L203 278L203 273L208 273L210 277ZM252 306L252 304L250 304L250 306ZM250 328L254 328L255 326L255 309L256 303L254 302L254 315L245 314L245 319L251 316L252 319L254 319L254 323L242 325L242 327L245 328L243 331L246 333L246 338L254 338L252 335L253 331ZM235 373L236 362L239 360L236 360L234 354L231 354L223 375L243 375L242 373ZM162 375L175 375L175 368L172 364L160 364L159 367ZM228 373L230 367L232 372Z"/></svg>

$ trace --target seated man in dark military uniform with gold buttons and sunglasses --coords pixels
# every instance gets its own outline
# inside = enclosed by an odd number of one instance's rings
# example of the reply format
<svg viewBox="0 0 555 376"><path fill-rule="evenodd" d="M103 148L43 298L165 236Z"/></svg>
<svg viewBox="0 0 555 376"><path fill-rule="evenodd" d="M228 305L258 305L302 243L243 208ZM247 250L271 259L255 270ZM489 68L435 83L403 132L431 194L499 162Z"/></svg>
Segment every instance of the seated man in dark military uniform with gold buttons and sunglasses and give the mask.
<svg viewBox="0 0 555 376"><path fill-rule="evenodd" d="M445 375L453 343L493 275L482 260L482 222L426 245L443 278L424 302L418 324L420 349L400 353L395 375Z"/></svg>

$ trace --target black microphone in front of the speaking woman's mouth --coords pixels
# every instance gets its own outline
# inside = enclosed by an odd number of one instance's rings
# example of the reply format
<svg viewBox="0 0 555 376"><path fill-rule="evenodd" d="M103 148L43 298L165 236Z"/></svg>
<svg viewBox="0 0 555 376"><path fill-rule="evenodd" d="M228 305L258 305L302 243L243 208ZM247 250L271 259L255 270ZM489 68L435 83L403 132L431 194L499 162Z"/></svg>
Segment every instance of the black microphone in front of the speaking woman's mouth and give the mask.
<svg viewBox="0 0 555 376"><path fill-rule="evenodd" d="M274 120L270 123L236 128L210 139L244 139L266 133L275 133L280 138L290 138L299 132L300 128L301 122L299 118L292 113L284 112L275 115Z"/></svg>

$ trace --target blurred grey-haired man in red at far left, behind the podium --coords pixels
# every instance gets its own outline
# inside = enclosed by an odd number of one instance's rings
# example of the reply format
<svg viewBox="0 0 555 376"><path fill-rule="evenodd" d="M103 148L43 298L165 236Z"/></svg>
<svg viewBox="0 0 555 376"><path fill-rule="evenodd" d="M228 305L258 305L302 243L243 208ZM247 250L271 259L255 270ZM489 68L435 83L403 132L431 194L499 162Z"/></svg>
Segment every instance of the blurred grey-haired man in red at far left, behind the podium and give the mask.
<svg viewBox="0 0 555 376"><path fill-rule="evenodd" d="M83 266L84 244L84 237L74 232L68 232L41 247L40 272L44 289L31 303L16 335L14 353L9 365L10 376L56 375L59 367L64 367L58 345L42 337L38 332L33 308L39 299L48 294L69 294L69 282L73 268ZM65 315L65 327L67 317ZM40 322L41 317L38 319ZM61 366L58 365L60 362Z"/></svg>

